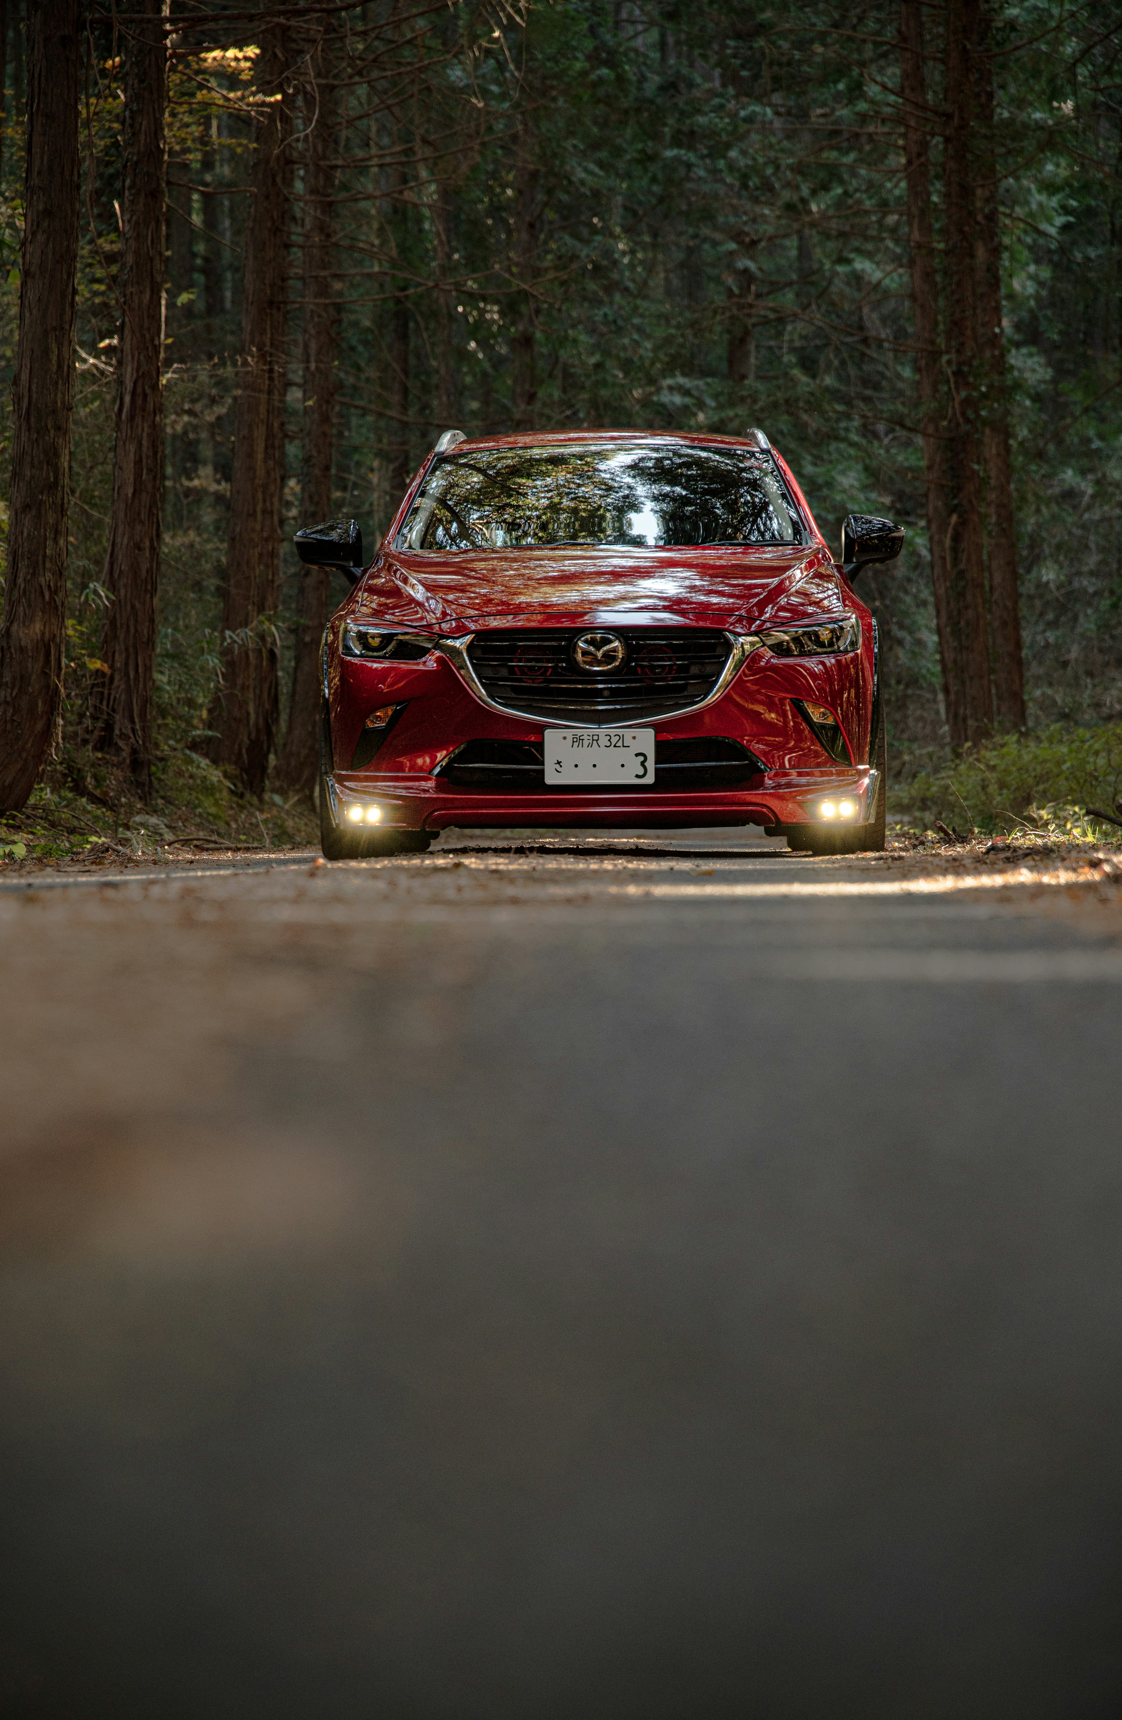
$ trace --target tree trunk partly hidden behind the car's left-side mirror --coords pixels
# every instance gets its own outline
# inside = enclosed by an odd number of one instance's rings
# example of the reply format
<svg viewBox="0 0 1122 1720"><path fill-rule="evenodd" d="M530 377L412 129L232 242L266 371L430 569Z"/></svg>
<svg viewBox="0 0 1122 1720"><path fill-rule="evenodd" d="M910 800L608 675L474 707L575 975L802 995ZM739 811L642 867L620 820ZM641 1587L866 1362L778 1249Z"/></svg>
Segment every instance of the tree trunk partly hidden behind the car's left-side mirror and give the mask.
<svg viewBox="0 0 1122 1720"><path fill-rule="evenodd" d="M332 76L320 53L317 71ZM327 64L325 64L327 62ZM303 476L299 506L305 525L332 516L332 456L336 430L336 361L339 308L334 301L337 93L318 86L318 114L308 132L305 167L305 351L303 351ZM332 611L330 569L308 568L299 588L293 660L293 698L277 776L291 789L308 789L318 772L320 638Z"/></svg>

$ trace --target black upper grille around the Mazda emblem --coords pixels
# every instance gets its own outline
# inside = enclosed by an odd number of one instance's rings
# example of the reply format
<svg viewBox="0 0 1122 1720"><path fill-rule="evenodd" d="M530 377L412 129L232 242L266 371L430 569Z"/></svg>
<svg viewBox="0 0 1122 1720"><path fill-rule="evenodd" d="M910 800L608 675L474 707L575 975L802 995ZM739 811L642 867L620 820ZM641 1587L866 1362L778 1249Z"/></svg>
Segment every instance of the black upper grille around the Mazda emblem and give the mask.
<svg viewBox="0 0 1122 1720"><path fill-rule="evenodd" d="M583 633L623 642L618 669L580 669ZM551 722L623 724L688 710L712 693L731 643L716 628L527 628L477 633L468 659L496 705Z"/></svg>

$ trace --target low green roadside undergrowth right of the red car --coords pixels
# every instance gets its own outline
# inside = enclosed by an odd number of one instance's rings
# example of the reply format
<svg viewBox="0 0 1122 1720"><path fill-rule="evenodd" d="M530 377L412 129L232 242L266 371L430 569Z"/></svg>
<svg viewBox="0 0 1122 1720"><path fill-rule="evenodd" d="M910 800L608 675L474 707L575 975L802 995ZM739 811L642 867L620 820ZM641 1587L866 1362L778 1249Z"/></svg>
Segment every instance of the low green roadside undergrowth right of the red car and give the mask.
<svg viewBox="0 0 1122 1720"><path fill-rule="evenodd" d="M910 812L960 829L1050 829L1094 834L1119 831L1088 820L1088 808L1119 815L1122 722L1069 729L1050 724L1036 734L1007 734L967 748L943 769L921 771L897 791Z"/></svg>

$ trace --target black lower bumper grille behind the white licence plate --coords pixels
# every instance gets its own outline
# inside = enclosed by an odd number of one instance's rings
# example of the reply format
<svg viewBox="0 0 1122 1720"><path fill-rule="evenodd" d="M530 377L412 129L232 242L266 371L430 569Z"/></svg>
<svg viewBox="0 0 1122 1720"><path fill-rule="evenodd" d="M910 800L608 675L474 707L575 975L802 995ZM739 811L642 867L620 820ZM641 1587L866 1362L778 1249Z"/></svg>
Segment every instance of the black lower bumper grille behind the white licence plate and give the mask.
<svg viewBox="0 0 1122 1720"><path fill-rule="evenodd" d="M766 765L738 741L700 734L697 740L654 743L654 783L582 783L580 793L678 793L687 789L747 788ZM468 741L441 765L453 788L478 788L492 795L556 795L546 783L542 741Z"/></svg>

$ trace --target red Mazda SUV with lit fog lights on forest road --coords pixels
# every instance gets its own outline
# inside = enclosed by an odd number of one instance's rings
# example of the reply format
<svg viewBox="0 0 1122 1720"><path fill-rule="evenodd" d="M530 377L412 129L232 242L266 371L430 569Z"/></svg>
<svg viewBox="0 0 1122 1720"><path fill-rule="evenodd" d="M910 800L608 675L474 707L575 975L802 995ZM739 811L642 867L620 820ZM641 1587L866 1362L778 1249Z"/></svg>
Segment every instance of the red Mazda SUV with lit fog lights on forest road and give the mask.
<svg viewBox="0 0 1122 1720"><path fill-rule="evenodd" d="M296 533L353 581L324 635L324 853L449 824L883 848L876 621L852 581L902 542L850 514L835 562L761 430L446 432L368 566L353 519Z"/></svg>

